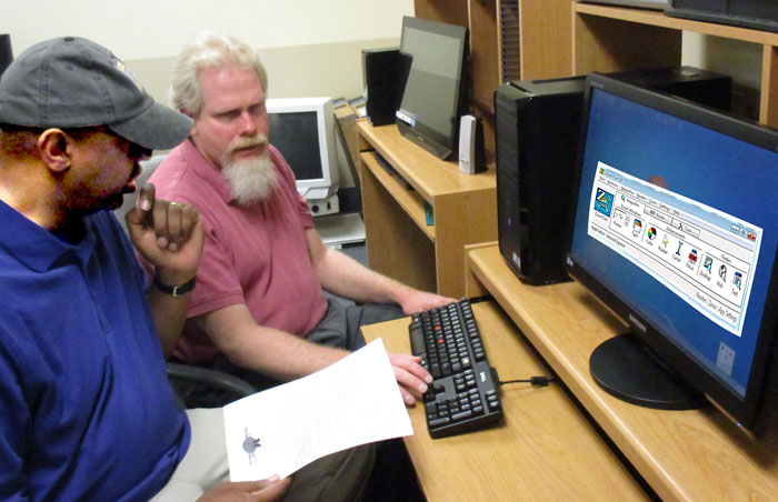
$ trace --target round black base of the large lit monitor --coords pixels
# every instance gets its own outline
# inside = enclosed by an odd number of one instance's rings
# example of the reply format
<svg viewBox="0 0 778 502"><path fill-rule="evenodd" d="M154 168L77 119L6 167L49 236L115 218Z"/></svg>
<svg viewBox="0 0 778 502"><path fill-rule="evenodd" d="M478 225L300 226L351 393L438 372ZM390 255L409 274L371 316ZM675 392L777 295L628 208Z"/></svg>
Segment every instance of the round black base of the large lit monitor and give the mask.
<svg viewBox="0 0 778 502"><path fill-rule="evenodd" d="M708 404L680 375L667 369L631 332L602 342L591 353L589 371L616 398L656 410L694 410Z"/></svg>

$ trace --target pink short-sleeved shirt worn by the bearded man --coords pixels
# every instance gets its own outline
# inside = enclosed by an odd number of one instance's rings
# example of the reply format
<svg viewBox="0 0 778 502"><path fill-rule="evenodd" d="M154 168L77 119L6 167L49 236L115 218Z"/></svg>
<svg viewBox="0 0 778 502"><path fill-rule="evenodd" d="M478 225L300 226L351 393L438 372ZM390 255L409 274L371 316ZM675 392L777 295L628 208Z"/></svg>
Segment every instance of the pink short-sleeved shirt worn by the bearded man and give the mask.
<svg viewBox="0 0 778 502"><path fill-rule="evenodd" d="M173 354L198 363L220 351L192 318L245 303L260 325L307 335L323 318L327 300L308 255L313 227L295 175L276 148L270 158L278 184L268 201L239 205L219 171L191 141L172 150L149 179L157 197L193 204L205 223L206 245L187 323Z"/></svg>

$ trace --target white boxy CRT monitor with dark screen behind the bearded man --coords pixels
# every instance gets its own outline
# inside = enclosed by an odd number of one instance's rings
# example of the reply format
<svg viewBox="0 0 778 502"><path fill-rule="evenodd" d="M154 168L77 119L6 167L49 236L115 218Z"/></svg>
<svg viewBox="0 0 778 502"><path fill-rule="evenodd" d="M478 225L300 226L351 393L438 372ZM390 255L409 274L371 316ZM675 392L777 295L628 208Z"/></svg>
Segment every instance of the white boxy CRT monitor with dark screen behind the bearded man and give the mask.
<svg viewBox="0 0 778 502"><path fill-rule="evenodd" d="M287 159L306 200L338 192L335 116L330 98L268 99L270 143Z"/></svg>

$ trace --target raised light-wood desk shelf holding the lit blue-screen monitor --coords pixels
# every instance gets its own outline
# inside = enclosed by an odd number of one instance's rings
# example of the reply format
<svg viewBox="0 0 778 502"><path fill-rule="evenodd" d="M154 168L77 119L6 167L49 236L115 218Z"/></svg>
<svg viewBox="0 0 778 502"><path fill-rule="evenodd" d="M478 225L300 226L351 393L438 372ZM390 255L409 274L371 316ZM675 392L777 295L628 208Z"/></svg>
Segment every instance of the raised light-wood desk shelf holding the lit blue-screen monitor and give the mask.
<svg viewBox="0 0 778 502"><path fill-rule="evenodd" d="M470 249L468 265L467 294L491 293L662 500L778 500L778 424L751 441L712 406L659 411L612 398L591 379L589 355L625 327L594 295L577 282L522 284L496 243Z"/></svg>

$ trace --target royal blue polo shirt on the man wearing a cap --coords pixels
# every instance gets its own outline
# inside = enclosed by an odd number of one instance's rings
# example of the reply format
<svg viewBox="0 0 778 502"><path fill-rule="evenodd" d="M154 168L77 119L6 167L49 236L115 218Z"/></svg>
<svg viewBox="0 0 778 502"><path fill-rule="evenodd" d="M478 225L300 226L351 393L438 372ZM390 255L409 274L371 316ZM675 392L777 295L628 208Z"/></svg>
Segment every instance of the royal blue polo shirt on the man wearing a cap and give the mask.
<svg viewBox="0 0 778 502"><path fill-rule="evenodd" d="M116 217L63 242L0 201L0 500L146 501L189 446Z"/></svg>

